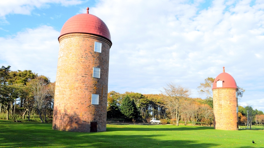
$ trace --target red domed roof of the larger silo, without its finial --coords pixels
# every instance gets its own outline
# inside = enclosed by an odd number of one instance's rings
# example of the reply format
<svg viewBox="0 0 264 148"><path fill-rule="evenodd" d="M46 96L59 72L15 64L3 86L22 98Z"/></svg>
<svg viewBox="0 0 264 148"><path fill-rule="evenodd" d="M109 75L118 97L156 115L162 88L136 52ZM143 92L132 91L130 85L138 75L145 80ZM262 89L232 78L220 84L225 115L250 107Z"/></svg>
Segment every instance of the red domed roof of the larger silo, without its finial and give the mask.
<svg viewBox="0 0 264 148"><path fill-rule="evenodd" d="M91 14L78 14L64 23L59 38L68 33L89 33L100 35L110 40L111 35L106 24L97 16Z"/></svg>

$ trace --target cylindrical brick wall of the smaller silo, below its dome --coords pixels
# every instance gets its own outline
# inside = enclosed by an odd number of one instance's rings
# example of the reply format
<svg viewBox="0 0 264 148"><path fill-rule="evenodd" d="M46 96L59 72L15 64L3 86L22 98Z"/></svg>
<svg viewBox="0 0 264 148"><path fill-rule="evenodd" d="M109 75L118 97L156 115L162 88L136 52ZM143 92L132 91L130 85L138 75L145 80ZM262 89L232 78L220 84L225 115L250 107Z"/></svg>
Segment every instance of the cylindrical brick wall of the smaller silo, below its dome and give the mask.
<svg viewBox="0 0 264 148"><path fill-rule="evenodd" d="M237 89L213 89L214 98L214 129L238 130Z"/></svg>

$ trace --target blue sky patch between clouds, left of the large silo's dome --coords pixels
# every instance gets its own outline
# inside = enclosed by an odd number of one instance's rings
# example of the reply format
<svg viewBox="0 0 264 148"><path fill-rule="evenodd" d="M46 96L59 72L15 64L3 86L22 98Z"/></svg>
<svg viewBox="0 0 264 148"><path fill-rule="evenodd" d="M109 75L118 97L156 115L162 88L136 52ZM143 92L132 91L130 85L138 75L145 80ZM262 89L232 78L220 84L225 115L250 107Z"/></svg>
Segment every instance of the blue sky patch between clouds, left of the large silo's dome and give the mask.
<svg viewBox="0 0 264 148"><path fill-rule="evenodd" d="M15 35L26 28L36 28L41 25L52 26L55 30L60 31L70 17L79 14L82 8L94 7L95 4L95 1L88 1L65 7L61 4L46 3L40 8L33 7L30 14L27 15L9 13L5 15L6 23L1 23L1 37Z"/></svg>

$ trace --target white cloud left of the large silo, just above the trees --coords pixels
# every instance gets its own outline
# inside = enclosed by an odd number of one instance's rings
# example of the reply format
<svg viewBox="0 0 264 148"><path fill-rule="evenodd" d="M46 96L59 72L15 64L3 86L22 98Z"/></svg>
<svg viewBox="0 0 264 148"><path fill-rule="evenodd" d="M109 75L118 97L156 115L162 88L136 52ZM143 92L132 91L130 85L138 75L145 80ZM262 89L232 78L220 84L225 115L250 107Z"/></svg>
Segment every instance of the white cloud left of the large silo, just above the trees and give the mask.
<svg viewBox="0 0 264 148"><path fill-rule="evenodd" d="M32 70L55 81L59 32L50 26L26 29L15 36L0 37L0 59L11 70Z"/></svg>

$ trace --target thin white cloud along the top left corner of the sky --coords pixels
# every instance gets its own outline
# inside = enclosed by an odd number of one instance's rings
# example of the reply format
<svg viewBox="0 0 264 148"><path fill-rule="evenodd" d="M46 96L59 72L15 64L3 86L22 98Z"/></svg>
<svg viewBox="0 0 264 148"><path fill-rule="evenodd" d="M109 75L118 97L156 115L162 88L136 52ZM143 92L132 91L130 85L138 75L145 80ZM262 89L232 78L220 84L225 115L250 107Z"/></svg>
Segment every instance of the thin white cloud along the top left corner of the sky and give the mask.
<svg viewBox="0 0 264 148"><path fill-rule="evenodd" d="M48 4L61 4L62 6L76 5L83 0L2 0L0 1L0 17L8 14L30 15L35 8L49 7Z"/></svg>

